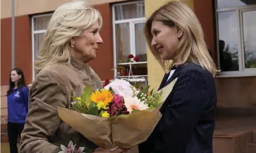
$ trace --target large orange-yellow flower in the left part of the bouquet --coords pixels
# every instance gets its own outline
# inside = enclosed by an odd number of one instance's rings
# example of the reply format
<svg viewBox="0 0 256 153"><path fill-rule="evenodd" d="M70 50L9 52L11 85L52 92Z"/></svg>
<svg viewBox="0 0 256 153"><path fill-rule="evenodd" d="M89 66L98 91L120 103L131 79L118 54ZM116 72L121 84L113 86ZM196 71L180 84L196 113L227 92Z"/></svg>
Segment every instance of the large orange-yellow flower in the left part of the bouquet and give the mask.
<svg viewBox="0 0 256 153"><path fill-rule="evenodd" d="M91 101L99 103L103 102L105 107L107 107L108 103L110 103L113 100L113 94L108 91L103 89L101 92L100 91L95 91L95 93L92 93L91 95Z"/></svg>

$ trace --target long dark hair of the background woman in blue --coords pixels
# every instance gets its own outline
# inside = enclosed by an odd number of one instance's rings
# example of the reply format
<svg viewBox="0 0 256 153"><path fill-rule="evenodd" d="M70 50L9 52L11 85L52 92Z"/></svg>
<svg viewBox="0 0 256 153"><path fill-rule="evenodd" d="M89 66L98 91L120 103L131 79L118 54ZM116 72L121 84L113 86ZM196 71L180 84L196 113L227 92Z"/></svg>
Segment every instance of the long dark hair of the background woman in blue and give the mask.
<svg viewBox="0 0 256 153"><path fill-rule="evenodd" d="M21 91L21 88L23 88L23 87L28 88L28 87L26 86L26 83L25 83L23 71L22 71L20 68L13 68L12 71L16 71L17 74L18 74L19 76L21 76L21 78L18 79L18 82L17 82L18 90ZM12 71L10 71L10 76L12 75L12 74L11 74ZM9 96L9 94L12 93L13 88L15 87L15 82L12 82L12 79L10 79L10 78L9 78L9 80L10 80L10 83L9 83L9 90L7 91L7 96Z"/></svg>

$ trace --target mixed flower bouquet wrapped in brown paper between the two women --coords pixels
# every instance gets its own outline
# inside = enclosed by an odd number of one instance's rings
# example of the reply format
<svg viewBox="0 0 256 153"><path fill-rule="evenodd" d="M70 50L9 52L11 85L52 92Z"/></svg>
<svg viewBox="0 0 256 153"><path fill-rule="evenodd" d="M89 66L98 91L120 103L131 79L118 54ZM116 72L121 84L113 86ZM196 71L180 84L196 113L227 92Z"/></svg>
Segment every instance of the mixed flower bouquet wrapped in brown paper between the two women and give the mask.
<svg viewBox="0 0 256 153"><path fill-rule="evenodd" d="M59 117L97 146L130 149L148 139L175 82L157 92L149 87L139 91L126 80L95 92L87 86L81 97L72 97L70 109L58 108Z"/></svg>

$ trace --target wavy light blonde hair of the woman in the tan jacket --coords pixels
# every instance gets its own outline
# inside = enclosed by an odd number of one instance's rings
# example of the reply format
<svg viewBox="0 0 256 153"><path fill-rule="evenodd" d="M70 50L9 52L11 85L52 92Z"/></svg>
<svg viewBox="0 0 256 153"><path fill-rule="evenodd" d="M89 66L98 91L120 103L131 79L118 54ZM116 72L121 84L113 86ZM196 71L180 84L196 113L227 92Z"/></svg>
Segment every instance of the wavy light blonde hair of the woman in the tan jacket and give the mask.
<svg viewBox="0 0 256 153"><path fill-rule="evenodd" d="M62 4L55 10L39 49L35 68L39 72L53 63L70 64L70 40L95 23L102 27L100 12L85 1Z"/></svg>

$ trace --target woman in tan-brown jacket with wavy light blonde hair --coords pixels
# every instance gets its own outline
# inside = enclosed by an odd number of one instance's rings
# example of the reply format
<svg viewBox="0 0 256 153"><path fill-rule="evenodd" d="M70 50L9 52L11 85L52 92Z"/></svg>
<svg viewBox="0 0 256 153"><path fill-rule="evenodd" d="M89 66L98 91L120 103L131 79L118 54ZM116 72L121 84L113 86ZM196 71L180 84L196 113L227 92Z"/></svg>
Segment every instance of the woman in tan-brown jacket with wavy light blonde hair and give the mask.
<svg viewBox="0 0 256 153"><path fill-rule="evenodd" d="M68 108L72 101L69 94L81 96L86 85L94 90L102 88L100 78L88 65L103 42L101 26L99 11L85 1L63 4L53 13L35 63L38 74L29 91L21 153L59 152L61 144L67 146L70 140L85 147L83 152L97 148L61 121L57 108Z"/></svg>

